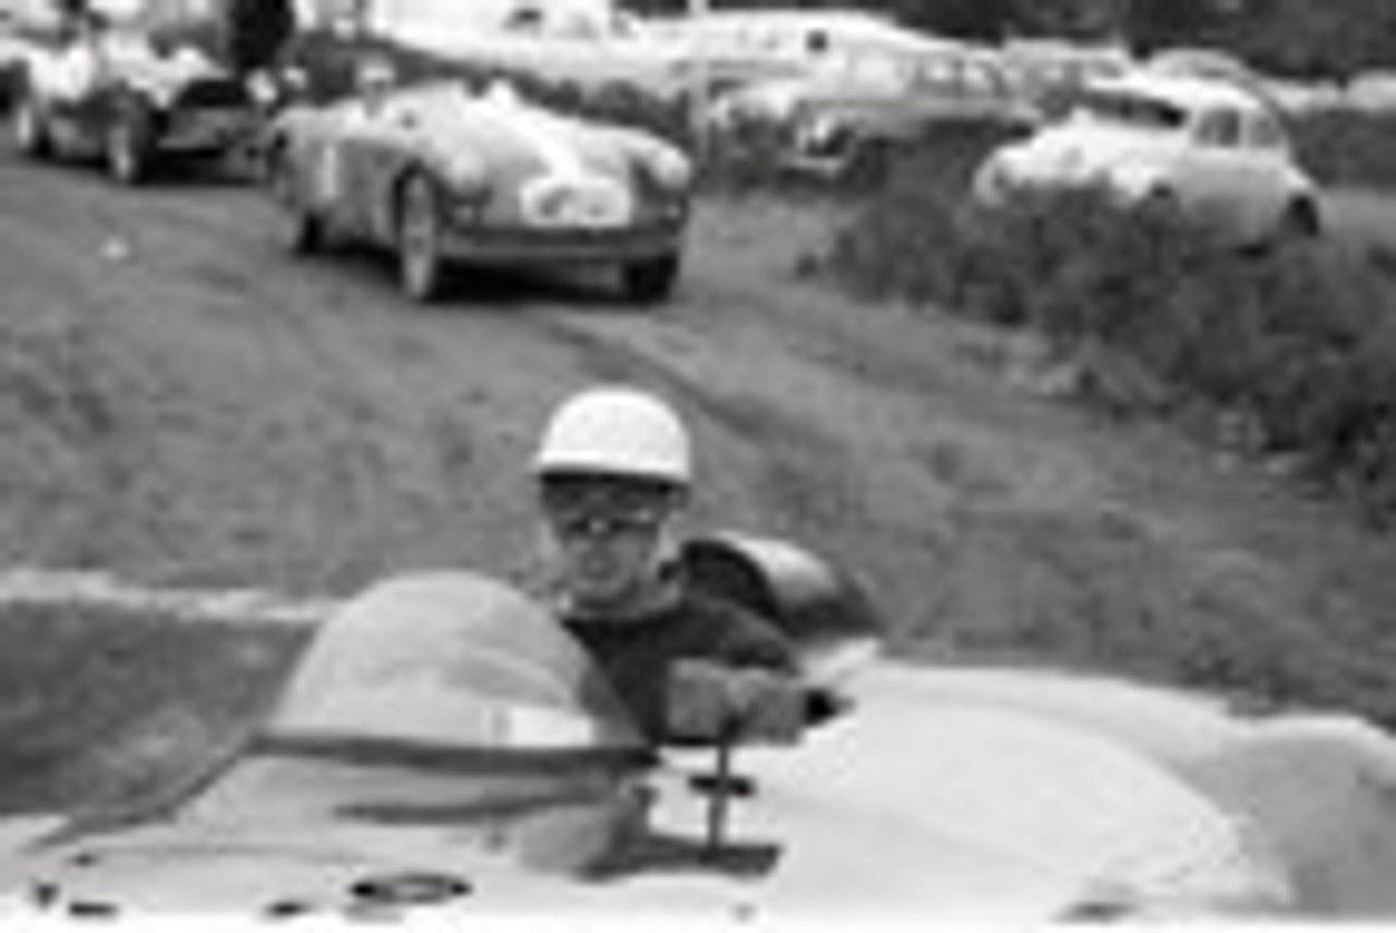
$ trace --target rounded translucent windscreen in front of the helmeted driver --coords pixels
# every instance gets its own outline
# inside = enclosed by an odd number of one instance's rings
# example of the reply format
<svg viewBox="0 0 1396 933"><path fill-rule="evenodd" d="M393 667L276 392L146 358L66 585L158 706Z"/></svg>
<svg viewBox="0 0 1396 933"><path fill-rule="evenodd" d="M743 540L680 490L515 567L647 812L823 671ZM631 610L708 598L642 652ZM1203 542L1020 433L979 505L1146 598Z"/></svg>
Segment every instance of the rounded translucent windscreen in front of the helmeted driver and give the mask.
<svg viewBox="0 0 1396 933"><path fill-rule="evenodd" d="M349 600L302 655L268 732L500 760L638 745L547 609L468 572L403 575Z"/></svg>

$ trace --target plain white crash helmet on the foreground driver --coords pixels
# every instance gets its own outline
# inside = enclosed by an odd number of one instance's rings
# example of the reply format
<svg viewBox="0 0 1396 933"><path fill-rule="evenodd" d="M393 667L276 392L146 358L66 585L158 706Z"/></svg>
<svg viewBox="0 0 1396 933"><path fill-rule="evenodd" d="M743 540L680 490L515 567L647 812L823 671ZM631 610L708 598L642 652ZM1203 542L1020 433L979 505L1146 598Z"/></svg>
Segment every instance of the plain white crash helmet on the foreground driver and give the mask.
<svg viewBox="0 0 1396 933"><path fill-rule="evenodd" d="M586 389L553 414L533 457L539 478L596 474L687 487L692 450L678 414L649 392Z"/></svg>

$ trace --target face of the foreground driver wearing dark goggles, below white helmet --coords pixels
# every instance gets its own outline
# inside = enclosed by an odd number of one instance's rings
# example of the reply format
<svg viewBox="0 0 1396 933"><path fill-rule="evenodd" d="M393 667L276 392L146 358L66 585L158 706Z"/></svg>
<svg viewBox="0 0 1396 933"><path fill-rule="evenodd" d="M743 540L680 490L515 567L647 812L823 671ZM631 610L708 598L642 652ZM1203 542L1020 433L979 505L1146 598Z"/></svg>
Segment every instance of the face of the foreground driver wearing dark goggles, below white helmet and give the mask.
<svg viewBox="0 0 1396 933"><path fill-rule="evenodd" d="M614 478L549 480L543 513L557 573L584 607L620 607L648 591L678 505L673 490Z"/></svg>

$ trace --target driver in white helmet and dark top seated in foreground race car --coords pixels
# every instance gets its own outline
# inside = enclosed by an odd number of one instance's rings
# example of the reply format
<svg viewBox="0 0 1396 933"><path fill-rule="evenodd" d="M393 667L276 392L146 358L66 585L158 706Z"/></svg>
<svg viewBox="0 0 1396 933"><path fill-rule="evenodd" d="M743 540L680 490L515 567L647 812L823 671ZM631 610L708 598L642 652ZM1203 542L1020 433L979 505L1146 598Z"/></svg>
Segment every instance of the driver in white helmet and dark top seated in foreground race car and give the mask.
<svg viewBox="0 0 1396 933"><path fill-rule="evenodd" d="M564 402L533 459L556 605L656 743L792 741L805 693L792 643L692 587L678 556L688 432L630 386Z"/></svg>

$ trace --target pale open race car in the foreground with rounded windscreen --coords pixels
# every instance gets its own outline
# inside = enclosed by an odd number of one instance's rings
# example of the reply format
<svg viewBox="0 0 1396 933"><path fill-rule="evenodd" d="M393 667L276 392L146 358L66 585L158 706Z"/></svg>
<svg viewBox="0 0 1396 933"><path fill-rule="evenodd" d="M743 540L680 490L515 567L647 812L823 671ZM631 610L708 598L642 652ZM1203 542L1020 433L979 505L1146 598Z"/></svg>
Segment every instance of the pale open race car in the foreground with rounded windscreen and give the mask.
<svg viewBox="0 0 1396 933"><path fill-rule="evenodd" d="M141 807L0 823L15 913L815 919L1396 913L1396 745L1096 676L879 658L786 543L695 544L812 690L794 748L656 754L515 590L408 575L328 612L267 714Z"/></svg>

